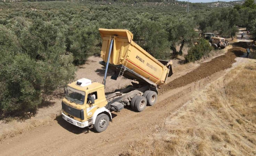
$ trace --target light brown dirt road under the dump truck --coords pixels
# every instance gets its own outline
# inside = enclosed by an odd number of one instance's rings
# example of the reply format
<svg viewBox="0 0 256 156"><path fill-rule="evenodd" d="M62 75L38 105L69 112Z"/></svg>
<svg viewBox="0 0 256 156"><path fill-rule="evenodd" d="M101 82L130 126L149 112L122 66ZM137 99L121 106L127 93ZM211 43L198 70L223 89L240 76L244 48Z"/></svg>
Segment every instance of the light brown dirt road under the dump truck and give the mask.
<svg viewBox="0 0 256 156"><path fill-rule="evenodd" d="M236 60L238 61L235 66L246 61L245 58L236 58ZM223 56L208 62L208 68L218 66L221 62ZM230 61L229 64L234 62ZM191 100L194 92L222 76L226 72L223 69L230 67L220 68L203 77L198 75L197 79L189 83L186 79L181 79L180 83L187 84L182 87L177 86L174 87L175 89L165 87L165 92L161 92L158 97L158 103L146 107L143 112L134 112L130 107L119 113L112 112L113 122L102 133L93 130L88 130L86 133L87 129L73 126L59 117L32 131L0 142L0 155L119 155L136 140L152 137L154 132L161 130L163 121L168 115Z"/></svg>

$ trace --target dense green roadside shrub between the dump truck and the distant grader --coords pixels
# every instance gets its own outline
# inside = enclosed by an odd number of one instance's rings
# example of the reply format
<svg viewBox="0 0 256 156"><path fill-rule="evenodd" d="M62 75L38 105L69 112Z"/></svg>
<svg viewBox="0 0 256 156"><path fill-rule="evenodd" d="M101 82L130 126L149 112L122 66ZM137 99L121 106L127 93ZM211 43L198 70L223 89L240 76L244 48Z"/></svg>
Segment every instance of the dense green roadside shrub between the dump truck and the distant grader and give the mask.
<svg viewBox="0 0 256 156"><path fill-rule="evenodd" d="M185 56L185 62L195 62L196 60L201 59L203 56L209 54L212 50L209 42L203 38L201 38L198 42L198 45L190 48Z"/></svg>

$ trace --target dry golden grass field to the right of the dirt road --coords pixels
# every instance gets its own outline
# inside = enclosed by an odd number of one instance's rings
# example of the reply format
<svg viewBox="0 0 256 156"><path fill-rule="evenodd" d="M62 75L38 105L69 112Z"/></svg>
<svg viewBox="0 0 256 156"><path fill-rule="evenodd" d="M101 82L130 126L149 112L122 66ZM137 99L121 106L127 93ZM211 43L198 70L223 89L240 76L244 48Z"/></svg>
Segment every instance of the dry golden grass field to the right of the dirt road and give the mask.
<svg viewBox="0 0 256 156"><path fill-rule="evenodd" d="M255 63L237 67L167 118L164 131L136 142L126 155L256 155L255 93Z"/></svg>

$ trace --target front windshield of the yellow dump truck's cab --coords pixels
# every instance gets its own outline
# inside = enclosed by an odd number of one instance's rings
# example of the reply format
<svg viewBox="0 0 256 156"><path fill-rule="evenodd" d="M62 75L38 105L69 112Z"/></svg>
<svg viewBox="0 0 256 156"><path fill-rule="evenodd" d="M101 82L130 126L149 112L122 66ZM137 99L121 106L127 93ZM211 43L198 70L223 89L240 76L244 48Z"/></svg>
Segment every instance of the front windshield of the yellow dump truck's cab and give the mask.
<svg viewBox="0 0 256 156"><path fill-rule="evenodd" d="M77 89L67 86L65 97L68 100L75 102L76 104L83 105L85 93L80 90L77 90Z"/></svg>

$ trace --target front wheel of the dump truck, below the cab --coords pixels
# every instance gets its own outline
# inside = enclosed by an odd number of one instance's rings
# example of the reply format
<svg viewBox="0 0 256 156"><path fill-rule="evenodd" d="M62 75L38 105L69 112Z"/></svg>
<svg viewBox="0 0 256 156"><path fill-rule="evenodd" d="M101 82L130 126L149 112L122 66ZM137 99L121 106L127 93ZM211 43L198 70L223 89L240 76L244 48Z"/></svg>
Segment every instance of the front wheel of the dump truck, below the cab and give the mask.
<svg viewBox="0 0 256 156"><path fill-rule="evenodd" d="M107 129L108 124L110 122L110 118L106 114L100 114L97 116L95 123L93 124L93 128L97 132L103 132Z"/></svg>

